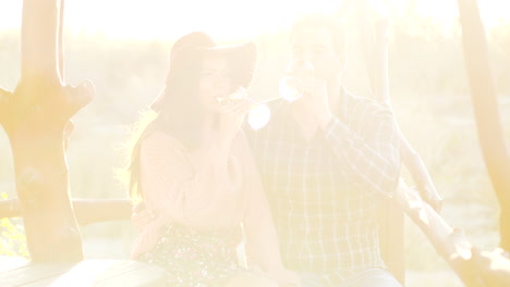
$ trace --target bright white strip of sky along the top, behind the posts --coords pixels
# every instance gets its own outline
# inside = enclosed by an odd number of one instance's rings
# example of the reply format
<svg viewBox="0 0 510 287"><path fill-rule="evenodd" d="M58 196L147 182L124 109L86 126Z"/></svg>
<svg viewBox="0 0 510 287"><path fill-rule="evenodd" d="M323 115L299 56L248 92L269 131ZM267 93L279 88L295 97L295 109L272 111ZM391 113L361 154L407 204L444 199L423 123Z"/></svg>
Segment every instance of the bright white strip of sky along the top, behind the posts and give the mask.
<svg viewBox="0 0 510 287"><path fill-rule="evenodd" d="M410 0L369 0L397 14ZM179 2L179 3L175 3ZM288 27L296 15L332 12L339 0L66 0L65 26L73 34L111 38L174 39L205 30L218 39L252 38ZM417 13L450 25L457 21L456 0L415 0ZM487 27L510 20L510 1L478 0ZM234 11L234 12L232 12ZM22 0L0 0L0 30L21 26Z"/></svg>

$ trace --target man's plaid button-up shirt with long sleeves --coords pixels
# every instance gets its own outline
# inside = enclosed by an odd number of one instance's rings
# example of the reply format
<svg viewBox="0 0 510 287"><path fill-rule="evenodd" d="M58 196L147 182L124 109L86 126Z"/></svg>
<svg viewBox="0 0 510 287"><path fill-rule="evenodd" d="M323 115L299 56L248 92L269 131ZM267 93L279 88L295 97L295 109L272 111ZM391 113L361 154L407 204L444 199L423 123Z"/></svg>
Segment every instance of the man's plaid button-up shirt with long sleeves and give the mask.
<svg viewBox="0 0 510 287"><path fill-rule="evenodd" d="M266 127L247 132L286 266L323 274L329 286L385 267L376 204L391 196L400 172L391 112L347 91L339 102L327 128L309 141L284 101L271 108Z"/></svg>

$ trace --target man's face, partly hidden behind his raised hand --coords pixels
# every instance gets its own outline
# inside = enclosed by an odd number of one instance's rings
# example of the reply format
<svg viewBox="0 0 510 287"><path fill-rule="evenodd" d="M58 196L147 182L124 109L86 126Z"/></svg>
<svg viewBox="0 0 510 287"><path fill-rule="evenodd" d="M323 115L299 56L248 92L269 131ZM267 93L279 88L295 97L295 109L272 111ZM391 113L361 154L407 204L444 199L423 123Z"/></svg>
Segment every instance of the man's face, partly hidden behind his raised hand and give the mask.
<svg viewBox="0 0 510 287"><path fill-rule="evenodd" d="M309 27L296 30L290 43L291 59L309 61L315 76L327 83L337 78L342 63L335 53L333 36L326 27Z"/></svg>

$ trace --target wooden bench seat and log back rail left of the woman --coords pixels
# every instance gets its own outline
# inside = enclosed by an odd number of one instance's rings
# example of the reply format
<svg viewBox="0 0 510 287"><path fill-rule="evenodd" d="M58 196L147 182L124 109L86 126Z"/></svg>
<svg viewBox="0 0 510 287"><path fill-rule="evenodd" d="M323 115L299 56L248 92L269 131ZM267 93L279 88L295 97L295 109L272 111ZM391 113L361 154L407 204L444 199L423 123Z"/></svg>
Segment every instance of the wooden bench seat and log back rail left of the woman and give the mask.
<svg viewBox="0 0 510 287"><path fill-rule="evenodd" d="M80 225L129 220L127 199L73 200ZM17 200L0 201L0 217L21 216ZM163 269L133 260L87 259L78 262L33 263L20 258L0 258L1 287L42 286L165 286Z"/></svg>

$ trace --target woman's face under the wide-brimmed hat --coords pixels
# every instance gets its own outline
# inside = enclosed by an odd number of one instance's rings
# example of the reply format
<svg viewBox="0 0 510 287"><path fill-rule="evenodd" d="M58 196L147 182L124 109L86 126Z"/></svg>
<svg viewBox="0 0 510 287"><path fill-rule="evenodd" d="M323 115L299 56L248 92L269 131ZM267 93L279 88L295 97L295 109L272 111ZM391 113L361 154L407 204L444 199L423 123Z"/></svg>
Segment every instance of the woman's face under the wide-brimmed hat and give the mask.
<svg viewBox="0 0 510 287"><path fill-rule="evenodd" d="M198 99L206 112L219 112L218 98L233 91L228 61L220 55L204 57L198 78Z"/></svg>

